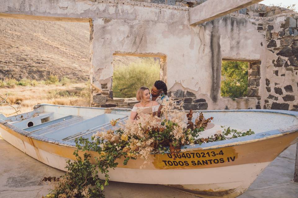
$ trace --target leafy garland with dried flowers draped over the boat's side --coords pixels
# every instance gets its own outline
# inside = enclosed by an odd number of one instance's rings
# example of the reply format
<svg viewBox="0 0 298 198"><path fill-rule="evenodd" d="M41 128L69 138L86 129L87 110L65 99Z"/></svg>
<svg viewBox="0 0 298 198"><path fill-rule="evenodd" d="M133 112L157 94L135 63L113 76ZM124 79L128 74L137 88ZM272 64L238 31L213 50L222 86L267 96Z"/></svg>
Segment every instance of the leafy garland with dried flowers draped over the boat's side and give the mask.
<svg viewBox="0 0 298 198"><path fill-rule="evenodd" d="M61 176L61 178L45 177L42 180L42 182L56 182L54 190L51 190L45 197L104 197L104 186L109 185L108 169L117 167L118 163L115 161L124 157L124 165L126 165L130 159L136 159L141 154L143 154L143 159L146 160L146 152L144 154L144 151L147 151L148 148L149 154L152 152L170 152L174 154L180 152L181 145L202 144L254 134L251 129L246 132L241 132L228 127L219 134L214 134L207 138L199 138L201 131L204 131L207 124L210 123L213 118L205 119L203 114L200 113L198 118L196 118L195 123L192 123L192 114L193 112L190 110L187 114L187 127L183 128L182 136L179 136L178 139L176 137L177 128L179 127L178 121L173 122L169 118L161 120L159 127L150 128L148 127L149 125L142 126L142 124L139 124L144 135L142 138L140 138L140 135L138 134L127 135L125 128L119 128L116 131L109 130L103 133L93 134L93 142L82 137L76 139L75 143L78 148L74 152L76 160L67 161L67 166L65 168L68 169L68 172L64 176ZM157 118L151 116L148 117L148 119L156 120ZM115 126L117 121L112 120L111 124ZM84 159L79 156L79 151L85 152L83 155ZM100 154L99 157L95 157L95 163L90 162L91 155L89 151L95 151ZM99 179L98 172L105 175L105 180Z"/></svg>

